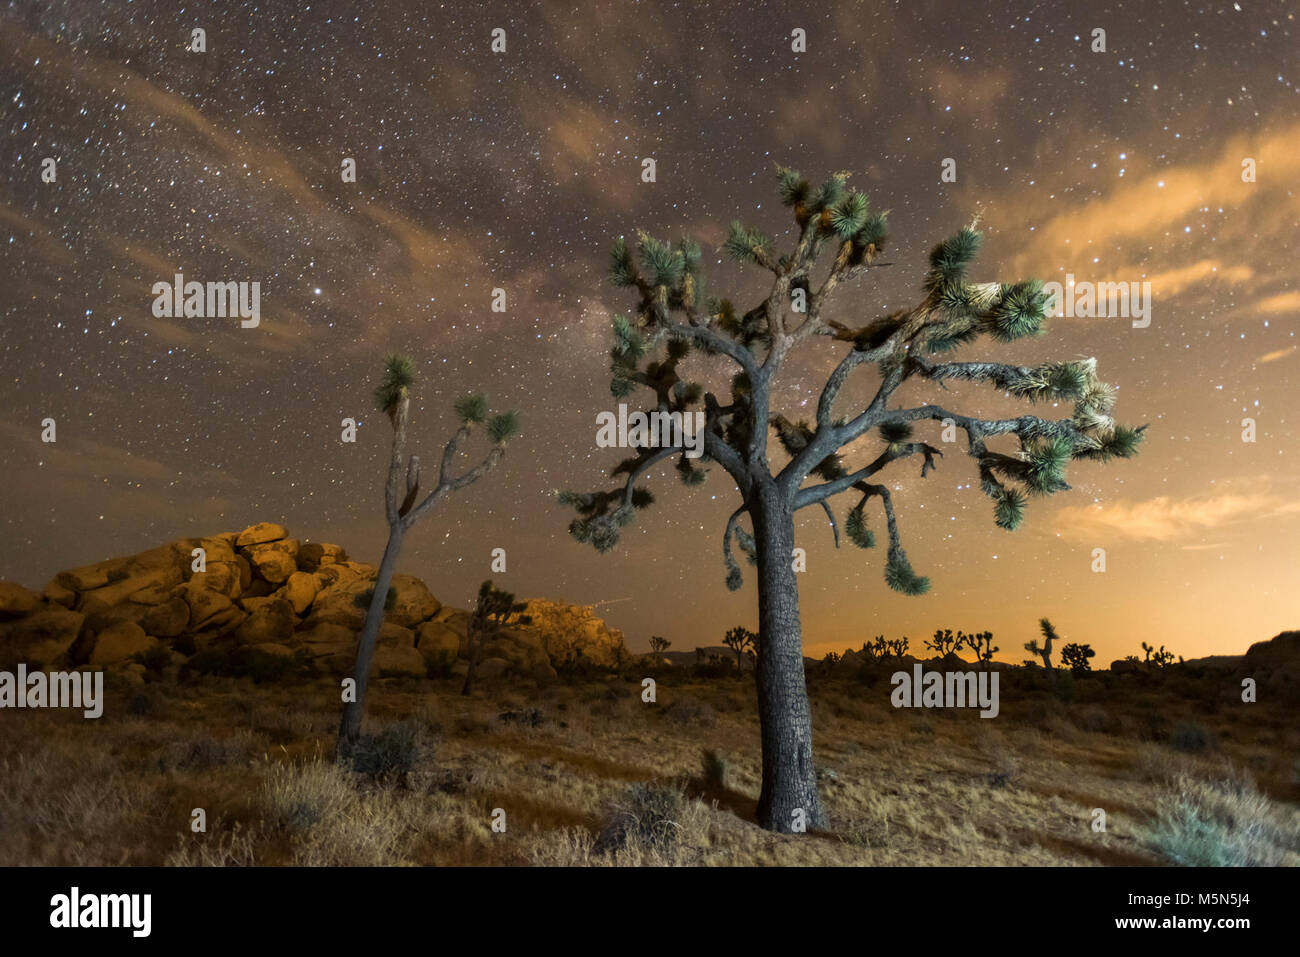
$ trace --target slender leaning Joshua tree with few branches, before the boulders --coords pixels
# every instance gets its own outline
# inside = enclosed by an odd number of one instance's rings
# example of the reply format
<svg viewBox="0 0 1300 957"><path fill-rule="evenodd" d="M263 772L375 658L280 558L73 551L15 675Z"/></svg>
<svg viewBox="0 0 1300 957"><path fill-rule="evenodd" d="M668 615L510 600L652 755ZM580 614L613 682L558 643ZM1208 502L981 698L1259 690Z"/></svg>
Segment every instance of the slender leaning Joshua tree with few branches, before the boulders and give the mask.
<svg viewBox="0 0 1300 957"><path fill-rule="evenodd" d="M384 624L384 606L389 588L393 585L393 572L396 568L402 540L415 523L432 512L447 495L459 492L482 478L497 467L506 454L506 443L519 430L519 413L512 411L489 416L488 399L482 395L467 395L455 404L460 428L447 441L442 450L438 467L438 481L420 499L420 456L407 456L407 419L411 411L411 385L415 382L415 363L407 356L389 356L384 365L384 380L374 390L374 404L389 416L393 424L393 456L389 460L389 477L384 485L384 512L389 521L389 544L384 549L380 572L374 579L365 624L356 646L356 667L352 671L355 681L354 700L343 705L343 720L339 724L339 744L350 744L361 733L361 718L365 714L365 688L370 677L370 662L374 658L374 642ZM462 475L454 475L456 454L469 438L473 428L486 424L488 438L493 447L477 465ZM406 489L403 489L403 475Z"/></svg>

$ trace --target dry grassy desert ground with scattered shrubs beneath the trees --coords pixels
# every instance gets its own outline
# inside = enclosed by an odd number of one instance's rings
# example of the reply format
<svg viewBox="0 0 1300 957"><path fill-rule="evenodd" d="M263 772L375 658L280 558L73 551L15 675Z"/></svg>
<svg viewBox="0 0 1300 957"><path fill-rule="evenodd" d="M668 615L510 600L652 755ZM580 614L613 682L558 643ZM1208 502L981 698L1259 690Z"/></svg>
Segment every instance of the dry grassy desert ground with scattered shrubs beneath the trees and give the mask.
<svg viewBox="0 0 1300 957"><path fill-rule="evenodd" d="M98 722L9 713L0 865L1300 862L1300 732L1261 705L1004 692L984 720L815 684L831 828L780 836L754 824L753 685L660 680L656 703L637 690L464 698L450 679L380 680L368 731L384 745L360 763L334 759L326 681L155 685L134 707L139 692L114 688Z"/></svg>

